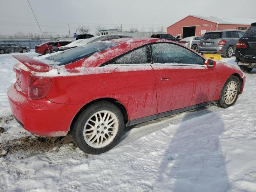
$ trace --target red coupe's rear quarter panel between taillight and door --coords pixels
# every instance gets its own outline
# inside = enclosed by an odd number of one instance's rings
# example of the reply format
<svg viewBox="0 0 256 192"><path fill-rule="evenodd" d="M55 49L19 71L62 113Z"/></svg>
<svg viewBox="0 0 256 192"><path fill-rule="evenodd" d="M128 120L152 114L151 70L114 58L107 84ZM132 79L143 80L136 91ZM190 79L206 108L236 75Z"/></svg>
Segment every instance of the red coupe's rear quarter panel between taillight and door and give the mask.
<svg viewBox="0 0 256 192"><path fill-rule="evenodd" d="M84 75L54 77L46 97L62 104L87 104L99 98L113 98L124 105L129 120L157 113L154 73L150 65L84 70Z"/></svg>

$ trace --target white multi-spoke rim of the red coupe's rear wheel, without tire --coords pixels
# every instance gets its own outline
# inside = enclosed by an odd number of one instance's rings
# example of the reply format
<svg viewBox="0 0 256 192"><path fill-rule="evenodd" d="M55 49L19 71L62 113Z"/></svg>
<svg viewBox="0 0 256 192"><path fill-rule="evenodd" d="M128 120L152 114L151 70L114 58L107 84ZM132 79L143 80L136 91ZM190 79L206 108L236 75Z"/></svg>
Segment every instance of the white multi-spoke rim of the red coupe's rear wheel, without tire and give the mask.
<svg viewBox="0 0 256 192"><path fill-rule="evenodd" d="M108 110L96 112L84 125L84 140L93 148L103 148L114 140L118 127L118 118L114 113Z"/></svg>

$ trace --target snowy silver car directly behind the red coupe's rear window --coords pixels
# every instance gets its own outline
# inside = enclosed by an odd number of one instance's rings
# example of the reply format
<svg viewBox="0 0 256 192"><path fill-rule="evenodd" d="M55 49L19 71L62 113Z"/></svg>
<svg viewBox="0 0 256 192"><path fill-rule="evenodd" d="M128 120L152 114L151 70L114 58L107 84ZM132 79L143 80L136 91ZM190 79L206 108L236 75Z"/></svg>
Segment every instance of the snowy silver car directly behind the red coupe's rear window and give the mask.
<svg viewBox="0 0 256 192"><path fill-rule="evenodd" d="M74 47L84 46L86 44L93 43L93 42L96 42L96 41L105 41L105 40L129 38L129 37L132 37L132 36L128 36L128 35L99 35L99 36L94 36L90 39L76 40L76 41L74 41L74 42L72 42L72 43L70 43L66 46L61 46L59 48L59 50L64 51L64 50L71 49L71 48L74 48Z"/></svg>

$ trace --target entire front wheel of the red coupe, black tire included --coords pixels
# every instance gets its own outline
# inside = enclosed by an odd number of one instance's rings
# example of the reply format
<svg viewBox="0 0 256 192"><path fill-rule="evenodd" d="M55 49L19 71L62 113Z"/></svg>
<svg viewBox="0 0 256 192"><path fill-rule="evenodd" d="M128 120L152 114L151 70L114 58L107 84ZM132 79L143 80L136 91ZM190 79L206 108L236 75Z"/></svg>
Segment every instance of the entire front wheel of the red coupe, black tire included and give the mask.
<svg viewBox="0 0 256 192"><path fill-rule="evenodd" d="M232 86L232 84L234 86ZM231 87L228 87L228 86L231 86ZM237 76L230 76L228 80L226 80L222 88L222 91L220 92L220 97L216 105L222 108L228 108L234 105L238 98L240 87L241 87L240 79Z"/></svg>

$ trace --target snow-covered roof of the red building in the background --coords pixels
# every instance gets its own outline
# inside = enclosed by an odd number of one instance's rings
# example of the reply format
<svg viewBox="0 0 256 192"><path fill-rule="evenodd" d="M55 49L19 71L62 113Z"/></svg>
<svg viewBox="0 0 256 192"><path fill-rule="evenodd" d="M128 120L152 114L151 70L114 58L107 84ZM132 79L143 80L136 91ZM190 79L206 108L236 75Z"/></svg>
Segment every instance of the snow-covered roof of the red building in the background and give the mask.
<svg viewBox="0 0 256 192"><path fill-rule="evenodd" d="M223 18L223 17L213 17L213 16L200 16L200 15L190 15L199 19L207 20L217 24L239 24L239 25L250 25L256 22L256 19L242 19L242 18Z"/></svg>

